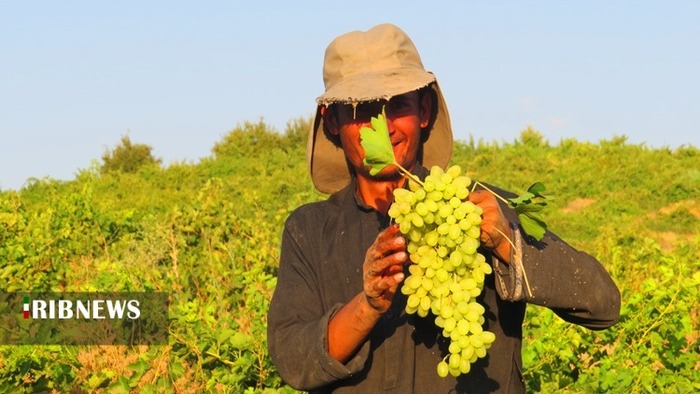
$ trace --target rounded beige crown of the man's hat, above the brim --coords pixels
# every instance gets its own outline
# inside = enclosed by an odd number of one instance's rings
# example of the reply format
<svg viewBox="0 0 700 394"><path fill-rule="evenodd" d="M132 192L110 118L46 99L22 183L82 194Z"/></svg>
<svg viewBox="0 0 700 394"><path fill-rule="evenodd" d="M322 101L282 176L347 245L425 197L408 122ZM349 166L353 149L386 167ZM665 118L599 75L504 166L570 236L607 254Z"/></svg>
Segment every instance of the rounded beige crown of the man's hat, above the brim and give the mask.
<svg viewBox="0 0 700 394"><path fill-rule="evenodd" d="M326 49L323 81L326 90L354 75L392 69L425 71L418 50L403 30L381 24L333 40Z"/></svg>

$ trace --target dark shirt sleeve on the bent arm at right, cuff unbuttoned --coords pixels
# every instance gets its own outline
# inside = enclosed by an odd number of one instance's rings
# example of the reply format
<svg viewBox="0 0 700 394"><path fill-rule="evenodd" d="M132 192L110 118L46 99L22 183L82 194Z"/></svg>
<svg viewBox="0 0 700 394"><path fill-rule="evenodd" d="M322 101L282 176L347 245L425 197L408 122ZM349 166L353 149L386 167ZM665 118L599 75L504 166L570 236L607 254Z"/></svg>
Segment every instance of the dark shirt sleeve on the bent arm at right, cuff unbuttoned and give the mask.
<svg viewBox="0 0 700 394"><path fill-rule="evenodd" d="M545 306L562 319L593 330L614 325L620 316L620 291L601 263L547 231L541 241L512 223L511 264L492 256L496 289L507 301Z"/></svg>

